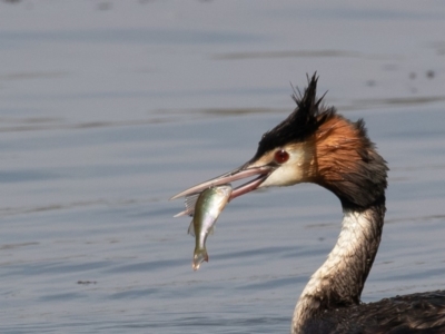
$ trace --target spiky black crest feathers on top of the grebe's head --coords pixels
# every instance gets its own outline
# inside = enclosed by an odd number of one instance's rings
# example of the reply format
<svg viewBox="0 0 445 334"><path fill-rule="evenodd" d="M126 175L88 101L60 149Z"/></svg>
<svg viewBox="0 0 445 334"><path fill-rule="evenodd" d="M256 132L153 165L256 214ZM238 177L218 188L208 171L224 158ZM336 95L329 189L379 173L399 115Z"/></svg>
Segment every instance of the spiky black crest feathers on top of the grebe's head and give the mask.
<svg viewBox="0 0 445 334"><path fill-rule="evenodd" d="M317 73L315 72L310 79L307 77L307 81L308 86L304 94L294 89L293 99L297 104L297 108L274 129L263 135L257 154L253 159L285 144L305 140L318 129L329 114L335 112L334 109L327 110L329 112L326 112L324 117L318 117L320 104L325 96L317 99Z"/></svg>

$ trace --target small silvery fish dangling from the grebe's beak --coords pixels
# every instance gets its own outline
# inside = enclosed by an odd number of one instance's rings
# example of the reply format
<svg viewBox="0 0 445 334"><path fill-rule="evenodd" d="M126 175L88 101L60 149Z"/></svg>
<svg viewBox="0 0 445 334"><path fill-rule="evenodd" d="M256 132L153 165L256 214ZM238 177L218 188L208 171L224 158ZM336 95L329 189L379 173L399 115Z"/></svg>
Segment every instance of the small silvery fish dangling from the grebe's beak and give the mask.
<svg viewBox="0 0 445 334"><path fill-rule="evenodd" d="M206 240L209 234L214 234L215 224L219 214L229 203L233 188L231 185L210 187L196 195L194 209L190 207L195 198L186 198L186 212L192 215L188 234L195 236L195 252L191 262L194 271L199 269L200 264L208 262ZM187 207L189 206L189 207Z"/></svg>

